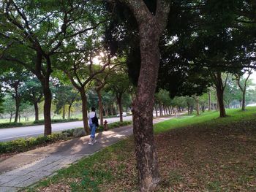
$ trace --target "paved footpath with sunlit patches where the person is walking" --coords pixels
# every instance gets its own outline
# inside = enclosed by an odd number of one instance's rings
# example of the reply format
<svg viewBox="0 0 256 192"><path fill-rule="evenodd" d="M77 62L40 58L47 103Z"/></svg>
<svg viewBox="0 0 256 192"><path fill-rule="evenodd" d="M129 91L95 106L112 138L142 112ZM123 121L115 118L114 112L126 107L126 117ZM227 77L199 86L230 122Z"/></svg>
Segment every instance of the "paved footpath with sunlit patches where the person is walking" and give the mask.
<svg viewBox="0 0 256 192"><path fill-rule="evenodd" d="M174 117L156 118L154 123L170 118ZM95 145L88 145L89 136L86 136L39 147L7 158L0 162L0 192L18 191L131 134L132 126L113 128L98 133Z"/></svg>

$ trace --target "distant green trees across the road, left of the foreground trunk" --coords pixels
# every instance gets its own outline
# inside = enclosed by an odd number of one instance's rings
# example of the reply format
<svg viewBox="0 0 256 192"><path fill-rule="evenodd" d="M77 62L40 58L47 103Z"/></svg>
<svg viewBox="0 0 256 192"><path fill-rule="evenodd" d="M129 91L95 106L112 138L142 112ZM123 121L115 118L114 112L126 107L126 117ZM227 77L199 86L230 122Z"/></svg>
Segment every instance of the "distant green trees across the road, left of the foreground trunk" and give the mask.
<svg viewBox="0 0 256 192"><path fill-rule="evenodd" d="M100 108L101 104L102 108L99 109L100 116L103 115L103 112L105 115L116 115L116 104L118 104L121 110L124 107L128 110L131 106L129 83L126 85L121 83L125 82L122 81L124 77L121 74L111 73L108 75L111 77L111 80L107 82L107 78L105 78L105 82L100 88L99 78L91 80L91 85L88 91L86 91L87 103L89 105L87 110L92 106ZM41 84L36 77L26 72L25 69L21 72L11 69L1 75L0 84L4 91L1 104L4 110L2 112L10 115L10 122L13 115L15 115L14 122L18 122L20 115L28 119L31 115L31 106L34 106L34 120L39 120L39 104L44 101L44 97ZM50 90L53 93L52 105L54 109L52 113L62 113L62 118L65 118L67 112L67 118L70 118L72 105L76 103L80 106L79 92L71 83L68 84L68 82L61 81L56 77L50 83ZM81 108L78 112L82 112Z"/></svg>

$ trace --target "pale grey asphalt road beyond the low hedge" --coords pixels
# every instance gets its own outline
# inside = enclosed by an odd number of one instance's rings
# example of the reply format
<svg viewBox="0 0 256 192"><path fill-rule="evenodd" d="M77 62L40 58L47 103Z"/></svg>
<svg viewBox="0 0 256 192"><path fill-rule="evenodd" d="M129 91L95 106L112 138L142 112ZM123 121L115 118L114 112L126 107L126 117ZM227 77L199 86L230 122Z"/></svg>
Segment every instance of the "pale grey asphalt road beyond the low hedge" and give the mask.
<svg viewBox="0 0 256 192"><path fill-rule="evenodd" d="M108 123L119 121L119 118L108 118ZM132 116L124 117L124 120L132 120ZM69 123L53 123L52 131L63 131L69 128L83 127L83 121ZM44 133L45 126L23 126L15 128L0 128L0 142L10 141L17 138L37 137Z"/></svg>

